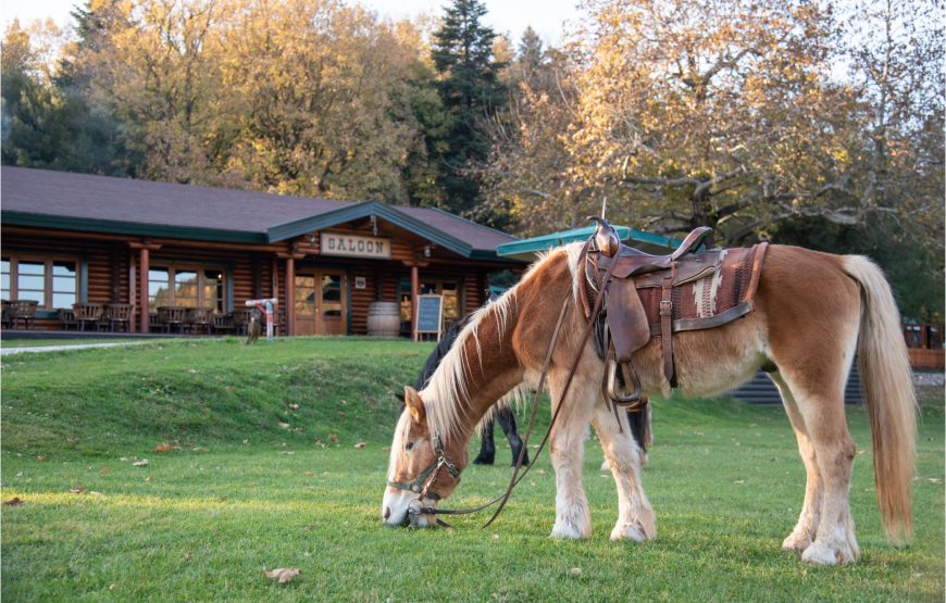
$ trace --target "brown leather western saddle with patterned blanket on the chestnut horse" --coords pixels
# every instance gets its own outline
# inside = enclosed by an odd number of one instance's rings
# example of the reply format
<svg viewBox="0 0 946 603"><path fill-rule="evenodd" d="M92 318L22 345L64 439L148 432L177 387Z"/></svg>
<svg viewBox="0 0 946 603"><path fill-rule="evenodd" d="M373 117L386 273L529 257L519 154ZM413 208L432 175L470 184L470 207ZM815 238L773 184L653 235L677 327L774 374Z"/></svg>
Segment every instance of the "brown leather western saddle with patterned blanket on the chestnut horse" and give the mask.
<svg viewBox="0 0 946 603"><path fill-rule="evenodd" d="M701 226L673 253L651 255L623 244L603 218L594 219L598 228L585 260L585 313L590 314L588 300L603 288L603 310L594 318L598 350L608 361L605 390L618 404L634 404L640 386L632 355L659 337L663 373L675 387L673 332L721 326L750 312L768 243L750 250L701 249L712 244L712 228ZM721 281L727 287L723 292ZM630 394L620 393L619 381L633 386Z"/></svg>

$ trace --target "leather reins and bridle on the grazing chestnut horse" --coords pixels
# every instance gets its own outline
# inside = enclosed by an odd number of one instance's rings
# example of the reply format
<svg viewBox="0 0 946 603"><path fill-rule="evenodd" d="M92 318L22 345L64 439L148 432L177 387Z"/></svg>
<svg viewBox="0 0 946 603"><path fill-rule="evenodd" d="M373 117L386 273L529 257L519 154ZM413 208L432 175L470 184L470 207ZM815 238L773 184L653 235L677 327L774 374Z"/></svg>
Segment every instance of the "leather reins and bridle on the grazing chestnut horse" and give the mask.
<svg viewBox="0 0 946 603"><path fill-rule="evenodd" d="M578 256L578 265L581 266L583 261L587 259L588 252L592 251L592 243L594 241L594 237L588 239L585 246L582 248L582 252ZM597 251L597 249L595 250ZM548 377L549 366L551 365L551 356L552 352L555 352L556 344L558 343L559 334L561 332L562 324L564 323L565 312L569 307L570 296L564 296L564 300L562 302L561 311L559 312L558 322L556 323L556 327L552 330L551 339L549 340L548 349L546 350L545 362L543 363L542 374L538 379L538 386L535 390L535 395L532 401L532 411L528 417L528 428L525 431L525 438L523 439L522 450L519 452L519 457L515 460L515 468L512 472L512 477L509 480L509 486L506 489L506 492L496 497L491 501L484 503L478 506L468 507L468 508L437 508L434 506L425 506L423 500L425 498L437 501L440 500L440 495L436 492L431 491L431 487L434 482L437 481L437 477L440 474L441 468L446 468L447 472L456 479L460 479L460 469L457 468L455 463L451 463L447 460L444 448L440 442L440 437L437 434L431 435L431 443L434 447L434 452L437 454L437 458L426 468L424 469L416 479L411 482L400 482L400 481L388 481L387 485L397 488L399 490L408 490L418 494L415 499L408 503L408 515L418 517L420 515L469 515L471 513L476 513L478 511L483 511L484 508L488 508L496 503L499 503L499 506L493 514L493 517L489 518L486 524L483 525L484 528L488 527L502 512L502 508L506 506L506 503L509 502L509 499L512 497L512 490L519 485L520 481L528 474L533 466L535 466L535 462L538 460L542 451L545 449L545 444L548 442L551 437L552 428L555 427L556 420L558 419L559 413L564 406L565 395L569 392L569 388L572 385L572 380L575 376L575 372L578 368L578 362L582 360L582 355L585 350L585 346L588 342L588 338L592 335L592 331L595 329L595 322L598 313L601 311L601 303L605 299L605 288L611 278L611 272L617 263L612 262L608 269L605 272L603 278L600 280L600 287L596 291L595 303L590 311L590 316L588 317L588 323L585 326L585 330L582 334L581 343L578 344L578 351L575 354L574 360L572 361L571 368L569 369L569 376L565 379L565 385L562 388L562 393L559 399L559 403L556 404L556 410L552 413L551 420L549 422L548 429L546 430L545 437L542 440L542 443L538 445L538 450L535 452L533 456L532 463L525 468L522 475L519 475L520 469L522 468L523 461L525 458L526 451L528 449L528 440L532 436L532 429L535 426L535 418L538 414L538 405L539 399L542 398L543 389L545 388L545 381ZM449 524L440 519L436 518L437 524L447 528L450 528Z"/></svg>

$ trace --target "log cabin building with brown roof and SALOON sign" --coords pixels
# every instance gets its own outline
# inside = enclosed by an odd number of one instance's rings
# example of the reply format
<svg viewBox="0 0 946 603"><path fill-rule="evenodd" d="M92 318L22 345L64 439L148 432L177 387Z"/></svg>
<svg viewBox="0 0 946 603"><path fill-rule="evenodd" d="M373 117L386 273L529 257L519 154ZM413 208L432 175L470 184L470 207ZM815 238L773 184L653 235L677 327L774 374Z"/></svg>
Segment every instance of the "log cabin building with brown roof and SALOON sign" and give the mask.
<svg viewBox="0 0 946 603"><path fill-rule="evenodd" d="M496 253L514 237L436 209L10 166L0 177L0 297L36 301L39 329L76 303L130 305L127 327L148 332L161 306L227 315L276 298L283 334L363 335L370 306L396 302L411 335L419 294L441 294L449 322L483 303L490 273L524 267Z"/></svg>

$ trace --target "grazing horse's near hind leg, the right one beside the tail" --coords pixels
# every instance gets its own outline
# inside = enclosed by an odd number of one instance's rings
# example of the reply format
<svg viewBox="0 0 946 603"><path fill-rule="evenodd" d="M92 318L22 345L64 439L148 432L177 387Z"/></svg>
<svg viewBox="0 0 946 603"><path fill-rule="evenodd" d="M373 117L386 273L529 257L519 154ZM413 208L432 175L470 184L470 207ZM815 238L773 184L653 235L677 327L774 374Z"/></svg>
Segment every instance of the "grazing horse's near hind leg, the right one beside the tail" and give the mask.
<svg viewBox="0 0 946 603"><path fill-rule="evenodd" d="M793 378L793 375L783 372L784 381L796 403L797 416L800 416L807 434L807 443L799 438L799 449L802 445L813 449L816 463L812 468L817 470L814 485L809 483L806 488L809 508L807 515L802 508L799 517L801 531L796 542L799 547L804 544L810 526L817 524L814 539L801 553L801 560L819 565L852 563L860 556L848 502L855 445L844 418L844 376L846 372L832 379L837 384L818 387L810 382L802 385L799 376ZM806 465L808 458L810 454L806 457ZM808 469L809 481L812 468Z"/></svg>

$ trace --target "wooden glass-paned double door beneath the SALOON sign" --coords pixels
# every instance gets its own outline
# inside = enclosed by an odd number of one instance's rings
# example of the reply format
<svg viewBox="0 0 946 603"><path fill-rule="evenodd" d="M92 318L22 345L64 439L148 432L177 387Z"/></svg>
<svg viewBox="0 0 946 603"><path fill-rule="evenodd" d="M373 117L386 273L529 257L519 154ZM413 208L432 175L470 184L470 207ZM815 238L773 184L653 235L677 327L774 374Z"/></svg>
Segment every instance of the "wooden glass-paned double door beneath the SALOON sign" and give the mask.
<svg viewBox="0 0 946 603"><path fill-rule="evenodd" d="M347 314L343 273L304 271L296 275L294 335L346 335Z"/></svg>

